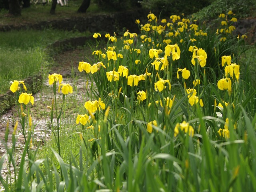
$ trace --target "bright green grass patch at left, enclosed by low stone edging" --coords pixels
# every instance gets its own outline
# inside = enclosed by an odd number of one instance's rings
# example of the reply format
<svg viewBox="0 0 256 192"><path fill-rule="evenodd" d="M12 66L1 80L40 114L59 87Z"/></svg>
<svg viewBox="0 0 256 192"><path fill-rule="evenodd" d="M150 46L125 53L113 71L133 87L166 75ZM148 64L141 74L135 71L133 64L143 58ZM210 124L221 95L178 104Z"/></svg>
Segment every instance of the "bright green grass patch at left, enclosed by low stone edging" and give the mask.
<svg viewBox="0 0 256 192"><path fill-rule="evenodd" d="M6 93L10 81L24 80L42 72L49 62L47 46L67 38L86 36L87 32L45 29L0 32L0 94Z"/></svg>

